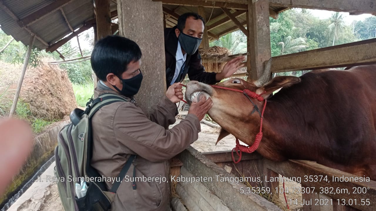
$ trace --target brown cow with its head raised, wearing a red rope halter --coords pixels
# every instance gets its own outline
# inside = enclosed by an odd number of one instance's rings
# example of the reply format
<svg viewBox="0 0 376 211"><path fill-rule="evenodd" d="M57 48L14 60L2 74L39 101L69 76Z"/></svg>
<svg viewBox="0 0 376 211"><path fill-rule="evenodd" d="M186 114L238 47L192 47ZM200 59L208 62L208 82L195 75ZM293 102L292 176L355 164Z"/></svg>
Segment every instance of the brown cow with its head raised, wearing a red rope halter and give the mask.
<svg viewBox="0 0 376 211"><path fill-rule="evenodd" d="M270 69L270 62L267 66ZM263 85L269 75L265 71L253 83L232 78L217 84L265 92L264 136L257 149L262 156L274 161L317 161L376 179L376 65L276 77ZM243 93L191 81L185 96L188 103L202 96L212 98L208 114L222 127L218 141L229 133L249 146L255 141L260 115ZM264 101L250 99L262 109Z"/></svg>

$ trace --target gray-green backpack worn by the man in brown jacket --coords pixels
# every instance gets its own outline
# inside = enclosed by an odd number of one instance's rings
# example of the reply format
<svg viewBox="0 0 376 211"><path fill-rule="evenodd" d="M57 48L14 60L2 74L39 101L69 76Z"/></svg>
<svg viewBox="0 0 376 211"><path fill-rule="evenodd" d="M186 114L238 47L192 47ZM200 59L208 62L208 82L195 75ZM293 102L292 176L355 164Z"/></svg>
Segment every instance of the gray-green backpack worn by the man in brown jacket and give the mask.
<svg viewBox="0 0 376 211"><path fill-rule="evenodd" d="M96 169L91 167L92 131L91 117L101 107L112 102L127 101L121 96L105 93L90 99L86 110L74 109L71 123L65 125L58 135L55 148L55 176L59 178L58 191L65 211L109 211L115 193L126 175L135 155L131 155L114 182L107 190L105 181ZM76 183L86 182L86 195L77 198Z"/></svg>

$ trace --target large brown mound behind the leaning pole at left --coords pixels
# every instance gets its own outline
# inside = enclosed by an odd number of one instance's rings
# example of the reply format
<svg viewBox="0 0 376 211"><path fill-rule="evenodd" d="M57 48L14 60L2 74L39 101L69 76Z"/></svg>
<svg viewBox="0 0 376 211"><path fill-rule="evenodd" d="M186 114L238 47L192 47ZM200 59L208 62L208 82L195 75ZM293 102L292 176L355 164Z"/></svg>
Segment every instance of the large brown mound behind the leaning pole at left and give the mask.
<svg viewBox="0 0 376 211"><path fill-rule="evenodd" d="M4 62L0 62L0 66L2 67L0 69L0 78L2 78L0 93L10 84L7 92L13 99L22 67ZM48 121L62 119L77 107L67 73L57 65L48 65L45 62L38 68L26 70L20 99L29 103L33 116L45 118Z"/></svg>

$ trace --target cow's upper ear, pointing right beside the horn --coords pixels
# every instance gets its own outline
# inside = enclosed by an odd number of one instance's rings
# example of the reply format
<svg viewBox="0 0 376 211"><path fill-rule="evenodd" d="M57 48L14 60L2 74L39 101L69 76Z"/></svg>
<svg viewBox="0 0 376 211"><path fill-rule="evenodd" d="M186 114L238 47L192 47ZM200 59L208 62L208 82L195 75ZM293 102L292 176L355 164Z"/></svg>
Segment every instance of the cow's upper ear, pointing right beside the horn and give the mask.
<svg viewBox="0 0 376 211"><path fill-rule="evenodd" d="M300 78L295 76L279 76L275 77L273 80L265 84L264 86L258 88L256 90L257 94L262 94L262 97L267 99L268 96L270 96L271 93L273 93L275 90L283 88L283 87L289 87L293 84L299 83Z"/></svg>

